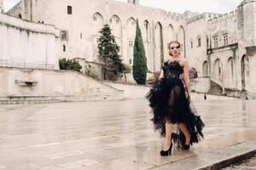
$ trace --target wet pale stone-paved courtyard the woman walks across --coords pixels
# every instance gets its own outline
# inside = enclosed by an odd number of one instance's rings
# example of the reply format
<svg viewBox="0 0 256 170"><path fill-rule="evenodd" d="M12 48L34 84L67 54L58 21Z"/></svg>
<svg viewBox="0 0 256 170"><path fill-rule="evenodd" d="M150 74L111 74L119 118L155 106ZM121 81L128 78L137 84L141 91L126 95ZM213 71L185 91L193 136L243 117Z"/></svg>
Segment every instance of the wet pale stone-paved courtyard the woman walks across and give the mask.
<svg viewBox="0 0 256 170"><path fill-rule="evenodd" d="M161 169L256 139L255 101L194 105L206 122L205 139L189 151L175 147L168 157L159 155L163 139L144 99L0 105L0 170Z"/></svg>

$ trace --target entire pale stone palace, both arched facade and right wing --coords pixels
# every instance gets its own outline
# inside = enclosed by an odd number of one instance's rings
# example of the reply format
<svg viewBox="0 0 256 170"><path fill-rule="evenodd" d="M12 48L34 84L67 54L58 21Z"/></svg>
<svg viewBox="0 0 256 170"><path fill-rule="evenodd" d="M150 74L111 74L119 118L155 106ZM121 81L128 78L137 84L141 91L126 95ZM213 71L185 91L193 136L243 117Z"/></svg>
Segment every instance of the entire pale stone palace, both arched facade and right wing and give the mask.
<svg viewBox="0 0 256 170"><path fill-rule="evenodd" d="M60 58L97 62L98 31L109 24L126 64L132 65L136 19L143 32L148 70L160 71L168 59L168 42L178 40L189 65L199 72L196 90L207 92L210 82L223 92L256 92L256 2L243 0L228 14L167 12L144 7L138 0L22 0L7 14L60 29Z"/></svg>

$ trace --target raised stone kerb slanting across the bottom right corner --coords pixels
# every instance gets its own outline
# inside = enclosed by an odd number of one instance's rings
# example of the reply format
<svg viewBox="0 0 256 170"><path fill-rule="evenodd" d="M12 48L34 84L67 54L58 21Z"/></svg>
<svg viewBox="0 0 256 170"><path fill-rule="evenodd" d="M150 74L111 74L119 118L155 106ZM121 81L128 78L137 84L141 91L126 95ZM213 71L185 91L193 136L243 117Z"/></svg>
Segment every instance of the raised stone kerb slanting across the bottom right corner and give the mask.
<svg viewBox="0 0 256 170"><path fill-rule="evenodd" d="M155 167L156 170L217 170L238 161L248 159L256 154L256 140L230 145L218 150L211 150L200 155L191 156L181 161Z"/></svg>

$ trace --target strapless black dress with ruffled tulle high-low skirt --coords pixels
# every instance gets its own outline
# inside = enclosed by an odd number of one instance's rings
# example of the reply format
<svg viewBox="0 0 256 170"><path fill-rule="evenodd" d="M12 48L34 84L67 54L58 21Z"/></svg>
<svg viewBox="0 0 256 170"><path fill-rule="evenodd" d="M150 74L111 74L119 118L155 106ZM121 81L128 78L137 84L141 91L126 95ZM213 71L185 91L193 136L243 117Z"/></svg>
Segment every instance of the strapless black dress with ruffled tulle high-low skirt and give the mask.
<svg viewBox="0 0 256 170"><path fill-rule="evenodd" d="M204 122L200 116L196 116L196 111L191 109L183 81L183 67L177 60L167 61L162 66L164 78L154 82L154 86L148 92L146 99L152 108L154 129L159 130L160 134L166 136L166 118L173 124L184 123L191 135L190 144L197 143L203 138L202 128ZM174 143L184 143L185 137L178 129L172 133Z"/></svg>

